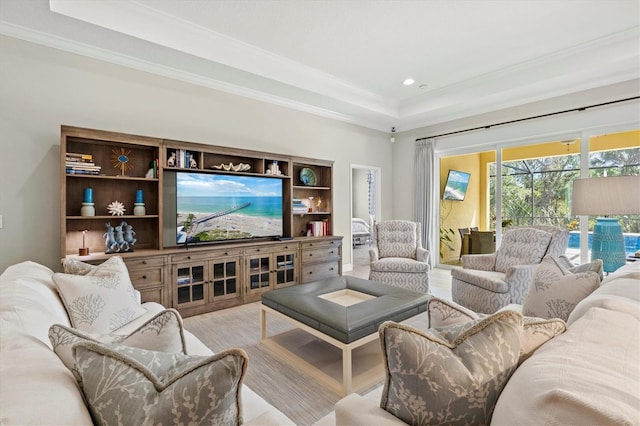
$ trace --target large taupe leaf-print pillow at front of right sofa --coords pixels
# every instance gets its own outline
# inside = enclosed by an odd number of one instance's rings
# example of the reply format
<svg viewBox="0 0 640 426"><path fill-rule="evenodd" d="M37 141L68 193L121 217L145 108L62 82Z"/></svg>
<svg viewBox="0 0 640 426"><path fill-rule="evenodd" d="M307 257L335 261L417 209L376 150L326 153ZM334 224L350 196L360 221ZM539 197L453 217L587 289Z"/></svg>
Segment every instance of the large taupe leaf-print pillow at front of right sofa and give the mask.
<svg viewBox="0 0 640 426"><path fill-rule="evenodd" d="M388 321L379 332L381 408L411 425L489 424L518 363L522 316L501 311L425 331Z"/></svg>

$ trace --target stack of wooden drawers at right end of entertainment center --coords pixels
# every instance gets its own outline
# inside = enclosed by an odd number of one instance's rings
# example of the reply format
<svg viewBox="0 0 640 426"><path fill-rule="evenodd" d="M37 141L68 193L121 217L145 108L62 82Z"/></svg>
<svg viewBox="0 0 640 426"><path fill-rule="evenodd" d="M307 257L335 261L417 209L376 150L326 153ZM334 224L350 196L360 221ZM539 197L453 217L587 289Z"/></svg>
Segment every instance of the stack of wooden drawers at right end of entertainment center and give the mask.
<svg viewBox="0 0 640 426"><path fill-rule="evenodd" d="M342 275L342 237L309 238L300 246L301 283Z"/></svg>

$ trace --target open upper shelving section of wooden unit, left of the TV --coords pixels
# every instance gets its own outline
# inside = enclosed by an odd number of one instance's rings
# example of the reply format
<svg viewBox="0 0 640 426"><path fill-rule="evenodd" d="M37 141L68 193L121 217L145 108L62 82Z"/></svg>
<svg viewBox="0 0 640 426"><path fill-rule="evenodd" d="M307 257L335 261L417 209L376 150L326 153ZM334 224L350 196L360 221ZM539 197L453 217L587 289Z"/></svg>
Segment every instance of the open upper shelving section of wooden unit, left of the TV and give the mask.
<svg viewBox="0 0 640 426"><path fill-rule="evenodd" d="M160 248L162 194L158 177L147 177L147 173L159 155L161 143L156 138L62 126L63 257L79 254L83 244L89 253L104 253L106 224L117 227L122 222L135 233L134 250ZM134 214L138 190L145 205L145 213L140 215ZM116 201L124 206L122 216L112 216L107 210Z"/></svg>

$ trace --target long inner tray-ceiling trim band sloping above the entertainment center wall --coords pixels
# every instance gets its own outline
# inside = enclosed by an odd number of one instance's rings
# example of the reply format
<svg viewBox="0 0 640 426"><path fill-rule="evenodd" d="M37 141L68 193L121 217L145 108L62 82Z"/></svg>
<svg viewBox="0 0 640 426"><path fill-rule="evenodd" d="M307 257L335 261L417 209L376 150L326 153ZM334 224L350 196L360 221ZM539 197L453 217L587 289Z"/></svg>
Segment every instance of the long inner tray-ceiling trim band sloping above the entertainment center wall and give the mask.
<svg viewBox="0 0 640 426"><path fill-rule="evenodd" d="M397 104L379 94L135 1L49 0L49 5L52 12L61 15L320 93L379 114L398 115Z"/></svg>

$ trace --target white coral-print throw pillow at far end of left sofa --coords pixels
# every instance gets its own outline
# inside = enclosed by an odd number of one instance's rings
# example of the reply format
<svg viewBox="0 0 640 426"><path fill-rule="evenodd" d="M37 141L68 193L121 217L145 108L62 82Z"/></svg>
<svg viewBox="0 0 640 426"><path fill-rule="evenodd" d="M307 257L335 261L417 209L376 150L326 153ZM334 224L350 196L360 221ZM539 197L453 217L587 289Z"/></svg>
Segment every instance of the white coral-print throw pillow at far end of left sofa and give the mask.
<svg viewBox="0 0 640 426"><path fill-rule="evenodd" d="M56 273L53 281L74 328L110 333L146 311L137 302L127 266L109 258L86 275Z"/></svg>

